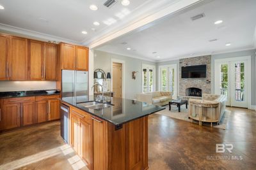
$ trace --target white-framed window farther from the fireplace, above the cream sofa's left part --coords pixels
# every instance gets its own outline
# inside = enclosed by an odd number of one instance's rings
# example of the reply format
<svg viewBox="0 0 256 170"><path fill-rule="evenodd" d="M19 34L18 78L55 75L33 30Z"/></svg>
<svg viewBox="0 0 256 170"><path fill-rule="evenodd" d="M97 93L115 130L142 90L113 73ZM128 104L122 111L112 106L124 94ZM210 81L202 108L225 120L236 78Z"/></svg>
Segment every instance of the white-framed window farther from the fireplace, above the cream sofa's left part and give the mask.
<svg viewBox="0 0 256 170"><path fill-rule="evenodd" d="M153 92L155 90L155 66L142 65L142 92Z"/></svg>

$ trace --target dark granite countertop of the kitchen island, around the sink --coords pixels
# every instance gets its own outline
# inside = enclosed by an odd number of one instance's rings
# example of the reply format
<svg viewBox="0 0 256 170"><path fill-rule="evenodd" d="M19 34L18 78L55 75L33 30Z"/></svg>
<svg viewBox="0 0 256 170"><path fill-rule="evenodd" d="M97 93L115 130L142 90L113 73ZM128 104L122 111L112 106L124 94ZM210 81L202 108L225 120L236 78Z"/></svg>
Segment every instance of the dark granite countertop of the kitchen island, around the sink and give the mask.
<svg viewBox="0 0 256 170"><path fill-rule="evenodd" d="M145 117L157 111L164 110L165 108L155 106L153 104L142 103L140 101L134 101L131 99L122 99L116 97L109 97L111 104L108 108L90 109L84 107L84 102L93 101L93 96L84 99L77 99L76 97L63 97L60 100L64 103L68 103L80 110L86 111L95 117L102 118L114 125L122 125L126 122L130 122L137 118ZM83 103L77 103L77 101Z"/></svg>

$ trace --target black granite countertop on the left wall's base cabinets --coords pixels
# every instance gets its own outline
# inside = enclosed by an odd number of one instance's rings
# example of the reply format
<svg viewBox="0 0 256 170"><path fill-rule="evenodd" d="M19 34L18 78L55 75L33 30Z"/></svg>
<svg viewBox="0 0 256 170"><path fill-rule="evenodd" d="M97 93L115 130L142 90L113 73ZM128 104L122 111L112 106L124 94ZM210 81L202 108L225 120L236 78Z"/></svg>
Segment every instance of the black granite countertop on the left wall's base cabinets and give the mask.
<svg viewBox="0 0 256 170"><path fill-rule="evenodd" d="M49 96L60 94L57 90L54 94L47 94L46 90L16 91L16 92L0 92L0 99L11 97L31 97L31 96Z"/></svg>

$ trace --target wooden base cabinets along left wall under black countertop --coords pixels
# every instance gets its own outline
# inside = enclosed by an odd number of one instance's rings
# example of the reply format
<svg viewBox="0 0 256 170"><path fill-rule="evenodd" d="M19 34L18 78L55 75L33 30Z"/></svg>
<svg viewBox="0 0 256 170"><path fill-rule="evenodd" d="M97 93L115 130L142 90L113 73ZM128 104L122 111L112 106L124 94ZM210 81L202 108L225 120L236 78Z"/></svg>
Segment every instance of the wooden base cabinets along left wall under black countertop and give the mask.
<svg viewBox="0 0 256 170"><path fill-rule="evenodd" d="M60 119L59 95L0 100L0 130Z"/></svg>

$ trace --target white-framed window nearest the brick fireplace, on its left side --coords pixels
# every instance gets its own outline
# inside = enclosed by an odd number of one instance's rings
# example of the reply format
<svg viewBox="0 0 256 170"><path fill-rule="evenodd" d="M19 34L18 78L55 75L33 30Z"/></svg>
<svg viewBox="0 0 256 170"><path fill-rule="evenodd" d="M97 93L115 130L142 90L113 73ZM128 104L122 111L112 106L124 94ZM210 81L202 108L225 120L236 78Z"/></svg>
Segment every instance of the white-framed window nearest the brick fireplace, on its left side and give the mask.
<svg viewBox="0 0 256 170"><path fill-rule="evenodd" d="M159 73L159 90L163 92L173 92L173 96L177 97L177 64L172 64L170 66L160 66Z"/></svg>

